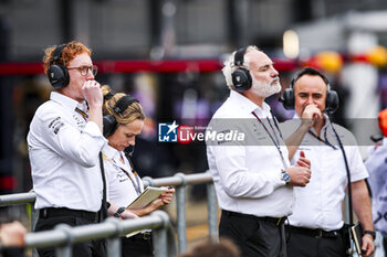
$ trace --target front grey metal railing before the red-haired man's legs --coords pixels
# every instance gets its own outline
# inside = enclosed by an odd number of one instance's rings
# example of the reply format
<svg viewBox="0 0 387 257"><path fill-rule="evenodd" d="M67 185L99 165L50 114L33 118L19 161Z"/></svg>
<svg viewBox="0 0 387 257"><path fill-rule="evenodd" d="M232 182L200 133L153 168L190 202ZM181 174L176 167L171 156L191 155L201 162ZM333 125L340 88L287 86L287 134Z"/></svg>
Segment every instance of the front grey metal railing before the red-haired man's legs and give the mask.
<svg viewBox="0 0 387 257"><path fill-rule="evenodd" d="M25 235L27 247L55 247L57 257L72 257L72 247L76 243L107 238L108 257L121 257L121 236L142 229L153 229L155 257L176 255L175 236L167 213L155 211L149 216L121 221L109 217L103 223L71 227L60 224L52 231L29 233Z"/></svg>

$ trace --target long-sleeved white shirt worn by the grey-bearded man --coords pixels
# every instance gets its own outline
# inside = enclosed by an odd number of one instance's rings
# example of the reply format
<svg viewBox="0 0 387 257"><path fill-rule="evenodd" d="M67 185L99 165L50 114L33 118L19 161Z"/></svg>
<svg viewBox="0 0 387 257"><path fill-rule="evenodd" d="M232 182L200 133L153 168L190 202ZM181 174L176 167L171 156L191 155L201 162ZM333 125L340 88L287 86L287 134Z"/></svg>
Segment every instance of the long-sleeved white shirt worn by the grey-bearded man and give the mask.
<svg viewBox="0 0 387 257"><path fill-rule="evenodd" d="M243 142L206 140L209 169L216 186L220 208L255 216L282 217L291 214L293 190L282 181L285 169L276 147L261 122L271 117L270 107L262 108L241 94L231 90L230 97L216 111L210 130L238 131ZM271 120L273 122L273 120ZM280 149L289 165L287 149L279 136ZM270 126L266 126L273 132Z"/></svg>

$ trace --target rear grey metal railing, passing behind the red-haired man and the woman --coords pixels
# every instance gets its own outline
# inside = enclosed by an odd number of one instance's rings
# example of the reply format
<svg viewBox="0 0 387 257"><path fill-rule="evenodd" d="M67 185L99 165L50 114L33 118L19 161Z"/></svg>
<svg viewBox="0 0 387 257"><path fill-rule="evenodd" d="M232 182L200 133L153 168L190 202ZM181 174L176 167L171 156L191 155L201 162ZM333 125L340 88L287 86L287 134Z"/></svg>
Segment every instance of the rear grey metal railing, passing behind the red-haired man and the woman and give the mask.
<svg viewBox="0 0 387 257"><path fill-rule="evenodd" d="M215 186L212 178L209 172L196 173L196 174L182 174L177 173L174 176L151 179L149 176L143 178L144 186L166 186L174 185L176 188L176 212L177 212L177 235L178 235L178 253L181 254L187 250L187 226L186 226L186 185L188 184L207 184L207 204L208 204L208 227L209 236L218 238L217 229L217 200L215 193ZM28 204L35 201L35 193L18 193L0 195L0 206L13 205L13 204ZM38 213L31 212L32 229L34 223L38 219ZM157 244L154 242L154 244Z"/></svg>

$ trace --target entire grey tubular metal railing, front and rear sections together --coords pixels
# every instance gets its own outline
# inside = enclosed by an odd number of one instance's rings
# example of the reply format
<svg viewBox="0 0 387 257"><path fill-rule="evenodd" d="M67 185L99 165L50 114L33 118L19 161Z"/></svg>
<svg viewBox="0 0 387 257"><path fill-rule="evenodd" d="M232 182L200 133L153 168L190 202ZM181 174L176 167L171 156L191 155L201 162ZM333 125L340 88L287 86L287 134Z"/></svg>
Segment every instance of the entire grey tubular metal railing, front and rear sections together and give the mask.
<svg viewBox="0 0 387 257"><path fill-rule="evenodd" d="M215 186L212 178L209 172L184 174L177 173L174 176L151 179L149 176L143 178L144 186L167 186L172 185L176 189L176 229L177 229L177 248L181 254L187 250L187 226L186 226L186 186L190 184L206 184L207 185L207 207L208 207L208 228L209 236L217 239L217 214L218 205L216 199ZM31 231L38 219L39 213L33 208L35 202L35 193L17 193L0 195L0 206L10 206L15 204L31 204ZM163 214L161 214L163 213ZM168 222L167 222L168 218ZM169 225L168 225L169 224ZM74 243L85 242L93 238L108 238L107 249L108 256L118 256L118 250L113 248L121 248L119 235L145 228L159 228L156 229L154 237L155 255L157 257L175 256L172 253L168 253L166 249L172 249L172 243L175 243L175 235L170 225L170 219L167 213L157 211L150 216L140 217L136 219L118 221L117 218L107 218L101 224L93 224L87 226L67 227L61 225L57 228L50 232L29 233L25 236L28 247L46 247L46 246L60 246L57 248L57 256L71 257L71 246ZM93 231L93 233L88 233ZM167 233L168 232L168 233ZM167 236L168 234L168 236ZM167 239L169 238L169 239ZM63 246L65 244L65 246ZM109 247L111 246L111 247ZM109 249L112 248L112 250ZM175 247L176 248L176 247ZM112 253L111 253L112 251ZM33 253L35 255L35 251Z"/></svg>

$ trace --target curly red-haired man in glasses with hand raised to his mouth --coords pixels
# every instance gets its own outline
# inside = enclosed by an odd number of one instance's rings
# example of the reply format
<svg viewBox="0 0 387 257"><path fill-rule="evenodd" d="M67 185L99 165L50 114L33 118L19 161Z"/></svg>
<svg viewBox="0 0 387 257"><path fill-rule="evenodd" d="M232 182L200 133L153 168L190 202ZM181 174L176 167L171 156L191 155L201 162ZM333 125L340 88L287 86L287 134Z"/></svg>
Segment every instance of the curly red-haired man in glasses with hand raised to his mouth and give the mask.
<svg viewBox="0 0 387 257"><path fill-rule="evenodd" d="M102 133L103 95L95 81L91 50L80 42L48 47L43 62L55 90L38 108L28 135L39 210L35 231L52 229L61 223L70 226L98 223L106 216L98 153L107 140ZM109 213L116 208L112 206ZM124 212L121 216L135 215ZM55 250L39 249L39 254L55 256ZM102 240L75 244L73 256L105 256L104 244Z"/></svg>

